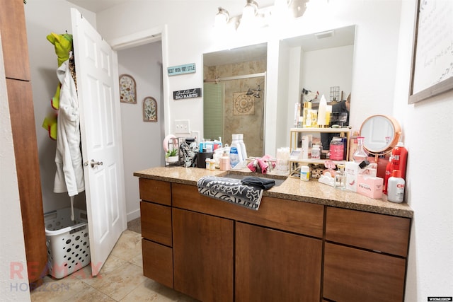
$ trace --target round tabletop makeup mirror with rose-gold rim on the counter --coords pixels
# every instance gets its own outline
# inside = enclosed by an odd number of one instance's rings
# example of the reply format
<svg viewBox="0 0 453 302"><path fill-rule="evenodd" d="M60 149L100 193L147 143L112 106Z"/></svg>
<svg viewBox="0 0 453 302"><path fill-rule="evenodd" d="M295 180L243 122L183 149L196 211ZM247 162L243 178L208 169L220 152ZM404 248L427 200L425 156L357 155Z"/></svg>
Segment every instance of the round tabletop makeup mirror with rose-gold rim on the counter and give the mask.
<svg viewBox="0 0 453 302"><path fill-rule="evenodd" d="M360 136L365 137L364 147L369 153L384 155L398 144L401 126L388 115L372 115L360 127Z"/></svg>

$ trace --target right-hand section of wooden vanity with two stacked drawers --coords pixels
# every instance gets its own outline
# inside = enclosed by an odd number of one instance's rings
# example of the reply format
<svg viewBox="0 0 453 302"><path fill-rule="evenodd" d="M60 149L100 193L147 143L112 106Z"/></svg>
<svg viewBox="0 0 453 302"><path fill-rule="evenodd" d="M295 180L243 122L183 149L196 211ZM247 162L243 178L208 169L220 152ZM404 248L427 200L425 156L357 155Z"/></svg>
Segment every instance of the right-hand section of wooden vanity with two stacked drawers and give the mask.
<svg viewBox="0 0 453 302"><path fill-rule="evenodd" d="M327 207L323 298L403 301L411 220Z"/></svg>

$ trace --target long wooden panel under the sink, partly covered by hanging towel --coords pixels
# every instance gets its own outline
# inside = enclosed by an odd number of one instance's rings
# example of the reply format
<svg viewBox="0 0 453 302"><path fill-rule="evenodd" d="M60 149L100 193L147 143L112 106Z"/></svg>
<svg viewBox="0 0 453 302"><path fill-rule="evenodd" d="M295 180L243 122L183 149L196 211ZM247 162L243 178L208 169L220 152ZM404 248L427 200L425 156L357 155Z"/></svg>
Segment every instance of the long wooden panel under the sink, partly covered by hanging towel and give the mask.
<svg viewBox="0 0 453 302"><path fill-rule="evenodd" d="M323 236L324 207L321 204L263 197L260 209L253 211L202 195L194 185L173 183L171 191L173 207L319 238Z"/></svg>

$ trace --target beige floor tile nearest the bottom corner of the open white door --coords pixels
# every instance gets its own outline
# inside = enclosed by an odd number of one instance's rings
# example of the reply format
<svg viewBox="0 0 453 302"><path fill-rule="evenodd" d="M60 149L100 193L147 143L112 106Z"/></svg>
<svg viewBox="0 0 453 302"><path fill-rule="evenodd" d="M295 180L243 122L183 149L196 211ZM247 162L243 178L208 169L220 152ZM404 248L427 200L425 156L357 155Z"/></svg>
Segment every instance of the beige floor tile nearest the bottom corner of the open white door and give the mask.
<svg viewBox="0 0 453 302"><path fill-rule="evenodd" d="M92 279L91 286L110 298L120 301L145 279L141 267L125 263L101 278Z"/></svg>

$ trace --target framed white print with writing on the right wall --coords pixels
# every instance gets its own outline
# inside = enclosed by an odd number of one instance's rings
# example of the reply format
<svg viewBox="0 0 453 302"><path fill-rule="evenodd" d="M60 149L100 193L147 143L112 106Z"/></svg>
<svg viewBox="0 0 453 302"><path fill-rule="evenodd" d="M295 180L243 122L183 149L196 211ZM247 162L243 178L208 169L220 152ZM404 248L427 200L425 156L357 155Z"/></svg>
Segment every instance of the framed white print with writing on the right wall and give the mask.
<svg viewBox="0 0 453 302"><path fill-rule="evenodd" d="M409 104L453 89L453 1L416 6Z"/></svg>

